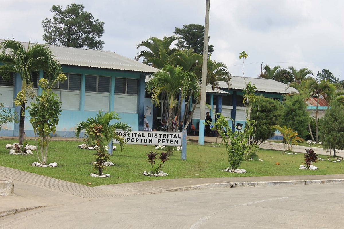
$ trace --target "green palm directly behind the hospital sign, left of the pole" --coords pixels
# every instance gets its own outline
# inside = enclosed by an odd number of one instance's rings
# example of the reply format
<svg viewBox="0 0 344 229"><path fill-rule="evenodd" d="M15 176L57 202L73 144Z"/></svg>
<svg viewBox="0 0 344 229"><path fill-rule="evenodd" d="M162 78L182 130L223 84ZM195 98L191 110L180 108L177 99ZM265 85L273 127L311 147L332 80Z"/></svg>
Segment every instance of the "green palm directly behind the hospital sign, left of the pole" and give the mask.
<svg viewBox="0 0 344 229"><path fill-rule="evenodd" d="M197 76L190 71L183 71L181 66L174 67L167 64L154 73L154 77L147 82L146 90L152 92L152 103L160 106L159 96L167 94L169 104L168 129L172 131L172 108L176 105L176 94L181 93L181 100L186 97L190 88L198 91Z"/></svg>

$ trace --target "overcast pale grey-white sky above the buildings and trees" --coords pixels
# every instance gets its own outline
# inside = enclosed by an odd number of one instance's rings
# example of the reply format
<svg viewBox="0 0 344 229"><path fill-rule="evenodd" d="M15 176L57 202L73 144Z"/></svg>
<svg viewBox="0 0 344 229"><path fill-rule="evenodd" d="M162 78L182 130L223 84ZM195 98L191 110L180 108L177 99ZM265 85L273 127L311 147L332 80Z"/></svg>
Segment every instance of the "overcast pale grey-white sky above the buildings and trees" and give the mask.
<svg viewBox="0 0 344 229"><path fill-rule="evenodd" d="M205 0L1 0L0 37L44 43L42 20L52 18L53 4L84 4L105 22L103 50L134 58L136 45L149 37L171 36L175 27L204 25ZM284 68L329 69L344 79L344 1L211 0L209 44L212 59L234 76L257 77L260 64ZM140 49L139 49L140 50ZM254 63L254 64L251 64ZM335 64L337 63L337 64Z"/></svg>

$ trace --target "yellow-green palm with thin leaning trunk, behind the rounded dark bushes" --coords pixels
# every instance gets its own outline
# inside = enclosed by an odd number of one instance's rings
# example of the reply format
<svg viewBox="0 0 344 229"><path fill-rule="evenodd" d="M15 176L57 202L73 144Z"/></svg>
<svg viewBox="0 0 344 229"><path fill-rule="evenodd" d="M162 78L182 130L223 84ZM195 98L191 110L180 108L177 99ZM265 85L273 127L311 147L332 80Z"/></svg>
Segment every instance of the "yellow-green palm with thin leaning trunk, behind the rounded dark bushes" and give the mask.
<svg viewBox="0 0 344 229"><path fill-rule="evenodd" d="M296 90L298 90L298 92L303 97L303 101L305 103L305 107L307 110L307 106L308 106L307 100L309 98L311 98L314 94L314 84L316 84L315 79L312 77L309 77L305 80L302 80L300 83L297 83L297 82L289 83L288 86L286 87L286 89L289 87L292 87L292 88L295 88ZM292 92L291 94L297 94L297 93ZM315 141L314 137L313 137L310 121L308 122L308 130L309 130L309 133L311 135L312 140Z"/></svg>

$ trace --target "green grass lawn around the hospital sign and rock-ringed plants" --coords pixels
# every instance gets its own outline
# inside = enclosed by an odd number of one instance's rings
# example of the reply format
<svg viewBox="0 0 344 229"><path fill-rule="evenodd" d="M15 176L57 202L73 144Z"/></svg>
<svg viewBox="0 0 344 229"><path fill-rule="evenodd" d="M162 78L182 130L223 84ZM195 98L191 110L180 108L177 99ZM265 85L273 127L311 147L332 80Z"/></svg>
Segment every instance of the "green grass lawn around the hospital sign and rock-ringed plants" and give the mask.
<svg viewBox="0 0 344 229"><path fill-rule="evenodd" d="M77 148L76 146L82 142L51 141L47 161L48 163L57 162L56 168L32 167L32 162L38 161L35 152L31 156L8 154L9 150L5 149L5 145L15 142L17 141L0 140L0 165L83 185L90 182L92 183L90 186L171 178L339 174L344 171L344 163L333 163L327 160L315 163L319 168L318 171L299 170L304 162L303 154L281 154L280 151L261 149L257 154L264 162L244 161L240 168L245 169L246 174L228 173L223 171L229 167L224 146L211 147L211 144L198 146L196 143L188 142L186 161L181 161L181 153L176 151L171 156L171 160L165 162L163 171L168 173L168 176L142 175L143 171L151 169L146 161L146 153L150 150L161 151L155 150L154 146L127 145L123 151L120 151L117 146L117 150L110 157L115 166L104 170L104 173L111 175L110 178L93 178L89 174L96 172L90 164L95 151ZM29 144L34 145L34 142L29 141ZM327 157L321 156L323 159ZM280 165L276 165L276 162Z"/></svg>

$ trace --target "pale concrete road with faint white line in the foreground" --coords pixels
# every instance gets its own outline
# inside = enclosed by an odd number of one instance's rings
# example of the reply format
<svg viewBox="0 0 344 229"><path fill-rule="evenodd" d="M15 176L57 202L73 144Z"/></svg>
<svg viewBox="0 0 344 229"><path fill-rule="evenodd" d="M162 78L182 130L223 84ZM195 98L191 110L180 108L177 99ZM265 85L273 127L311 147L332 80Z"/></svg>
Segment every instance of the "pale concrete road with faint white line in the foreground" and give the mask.
<svg viewBox="0 0 344 229"><path fill-rule="evenodd" d="M2 217L0 228L343 228L344 184L109 197Z"/></svg>

